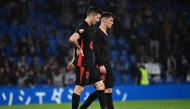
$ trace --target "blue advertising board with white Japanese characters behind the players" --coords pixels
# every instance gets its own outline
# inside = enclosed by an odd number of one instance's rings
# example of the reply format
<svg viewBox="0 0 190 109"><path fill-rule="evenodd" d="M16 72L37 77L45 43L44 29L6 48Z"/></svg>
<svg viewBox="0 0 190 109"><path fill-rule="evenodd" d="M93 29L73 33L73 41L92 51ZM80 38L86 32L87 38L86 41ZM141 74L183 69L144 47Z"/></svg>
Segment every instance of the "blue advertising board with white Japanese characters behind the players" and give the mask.
<svg viewBox="0 0 190 109"><path fill-rule="evenodd" d="M0 105L8 105L10 102L10 93L13 93L13 100L10 105L25 104L28 97L31 97L29 104L39 104L39 96L35 93L43 92L43 103L59 103L54 99L52 100L53 92L60 93L60 103L71 102L71 96L74 87L61 87L61 88L1 88L0 89ZM81 95L81 101L93 92L93 86L86 87ZM24 94L21 92L24 92ZM3 98L3 93L6 99ZM19 96L23 101L19 100ZM58 97L58 96L55 96ZM189 99L190 98L190 84L182 85L150 85L150 86L115 86L113 89L113 100L126 101L126 100L151 100L151 99Z"/></svg>

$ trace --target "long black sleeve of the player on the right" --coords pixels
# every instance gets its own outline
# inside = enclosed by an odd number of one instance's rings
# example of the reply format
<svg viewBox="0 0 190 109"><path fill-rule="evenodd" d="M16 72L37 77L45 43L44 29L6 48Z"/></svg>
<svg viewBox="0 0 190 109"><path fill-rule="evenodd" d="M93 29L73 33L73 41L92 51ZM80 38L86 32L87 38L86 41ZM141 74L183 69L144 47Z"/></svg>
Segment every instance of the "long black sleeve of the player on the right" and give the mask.
<svg viewBox="0 0 190 109"><path fill-rule="evenodd" d="M98 32L94 32L93 34L93 49L94 49L94 55L96 62L99 66L103 65L101 56L100 56L100 44L101 44L101 36Z"/></svg>

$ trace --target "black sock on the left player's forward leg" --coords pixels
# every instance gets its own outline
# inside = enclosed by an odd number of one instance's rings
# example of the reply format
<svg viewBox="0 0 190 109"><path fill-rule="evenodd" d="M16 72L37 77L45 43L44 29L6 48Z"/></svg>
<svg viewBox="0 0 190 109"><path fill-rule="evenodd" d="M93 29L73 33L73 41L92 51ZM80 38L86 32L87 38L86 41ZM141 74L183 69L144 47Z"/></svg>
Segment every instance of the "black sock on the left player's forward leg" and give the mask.
<svg viewBox="0 0 190 109"><path fill-rule="evenodd" d="M100 102L100 106L102 109L107 109L107 102L106 102L106 96L104 93L104 90L97 90L97 97Z"/></svg>

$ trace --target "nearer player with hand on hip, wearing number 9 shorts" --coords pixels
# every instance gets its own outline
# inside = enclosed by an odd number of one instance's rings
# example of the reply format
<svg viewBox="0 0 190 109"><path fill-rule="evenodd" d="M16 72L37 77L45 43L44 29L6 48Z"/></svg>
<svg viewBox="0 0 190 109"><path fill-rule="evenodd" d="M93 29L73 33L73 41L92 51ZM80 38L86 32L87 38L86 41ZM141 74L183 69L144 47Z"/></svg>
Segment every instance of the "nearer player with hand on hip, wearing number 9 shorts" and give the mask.
<svg viewBox="0 0 190 109"><path fill-rule="evenodd" d="M104 93L105 86L93 61L92 32L90 30L90 25L96 24L101 14L102 11L97 7L90 7L87 11L86 19L78 26L69 39L75 47L75 58L67 66L68 70L75 67L76 71L76 86L72 95L72 109L78 108L80 94L84 90L84 86L88 85L89 82L94 83L96 87L101 109L107 109Z"/></svg>

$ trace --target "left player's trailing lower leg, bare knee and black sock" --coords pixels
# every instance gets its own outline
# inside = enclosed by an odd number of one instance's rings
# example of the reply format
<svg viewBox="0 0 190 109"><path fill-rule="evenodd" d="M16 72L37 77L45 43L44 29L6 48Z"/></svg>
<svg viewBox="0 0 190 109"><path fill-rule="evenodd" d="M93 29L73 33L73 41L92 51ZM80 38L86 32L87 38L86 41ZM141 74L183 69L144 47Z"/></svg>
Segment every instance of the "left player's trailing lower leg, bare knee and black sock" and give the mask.
<svg viewBox="0 0 190 109"><path fill-rule="evenodd" d="M72 109L77 109L80 102L80 94L84 90L83 86L76 85L72 95Z"/></svg>

